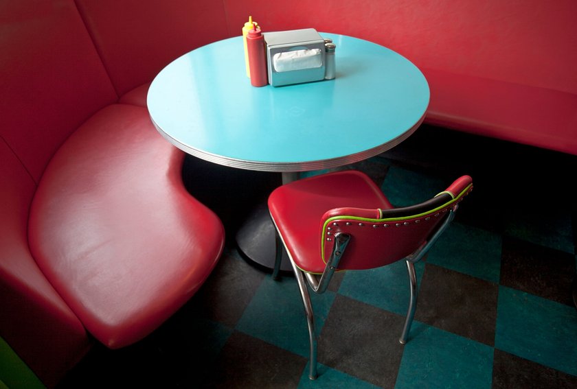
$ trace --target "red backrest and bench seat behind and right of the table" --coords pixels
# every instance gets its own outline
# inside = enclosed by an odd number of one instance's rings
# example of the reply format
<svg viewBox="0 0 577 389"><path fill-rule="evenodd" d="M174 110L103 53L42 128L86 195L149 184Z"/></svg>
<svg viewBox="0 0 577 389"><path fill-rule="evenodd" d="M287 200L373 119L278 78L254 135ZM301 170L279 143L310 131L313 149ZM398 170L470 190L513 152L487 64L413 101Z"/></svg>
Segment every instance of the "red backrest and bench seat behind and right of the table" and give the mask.
<svg viewBox="0 0 577 389"><path fill-rule="evenodd" d="M315 27L394 49L431 86L425 123L577 154L577 1L225 1L231 34ZM337 44L337 69L339 48Z"/></svg>

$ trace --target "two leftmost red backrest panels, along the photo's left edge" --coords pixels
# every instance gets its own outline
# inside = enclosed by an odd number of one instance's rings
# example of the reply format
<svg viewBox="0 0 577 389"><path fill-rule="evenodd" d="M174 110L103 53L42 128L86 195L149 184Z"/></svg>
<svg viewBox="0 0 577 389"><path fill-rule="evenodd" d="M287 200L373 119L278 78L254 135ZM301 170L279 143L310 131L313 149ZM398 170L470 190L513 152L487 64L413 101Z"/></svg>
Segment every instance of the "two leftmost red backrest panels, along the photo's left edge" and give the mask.
<svg viewBox="0 0 577 389"><path fill-rule="evenodd" d="M73 1L0 15L0 335L51 387L91 340L30 254L30 202L60 144L117 95Z"/></svg>

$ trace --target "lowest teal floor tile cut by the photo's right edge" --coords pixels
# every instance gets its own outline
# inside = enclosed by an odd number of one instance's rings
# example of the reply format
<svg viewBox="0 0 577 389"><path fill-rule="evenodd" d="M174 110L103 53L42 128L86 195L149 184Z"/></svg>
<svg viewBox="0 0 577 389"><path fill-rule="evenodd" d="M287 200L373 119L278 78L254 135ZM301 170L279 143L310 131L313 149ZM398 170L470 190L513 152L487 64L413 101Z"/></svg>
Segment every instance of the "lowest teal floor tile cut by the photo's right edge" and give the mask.
<svg viewBox="0 0 577 389"><path fill-rule="evenodd" d="M501 286L495 348L577 375L577 311Z"/></svg>

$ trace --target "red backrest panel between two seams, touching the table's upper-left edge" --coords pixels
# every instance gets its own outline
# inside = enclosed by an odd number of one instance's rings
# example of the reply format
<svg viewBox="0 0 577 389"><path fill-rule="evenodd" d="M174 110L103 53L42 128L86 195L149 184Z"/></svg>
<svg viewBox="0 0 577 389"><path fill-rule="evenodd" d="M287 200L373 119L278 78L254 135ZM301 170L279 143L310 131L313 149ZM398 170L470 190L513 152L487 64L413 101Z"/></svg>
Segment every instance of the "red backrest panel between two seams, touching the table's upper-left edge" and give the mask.
<svg viewBox="0 0 577 389"><path fill-rule="evenodd" d="M232 36L220 1L77 0L76 4L119 95L152 81L186 52ZM240 30L233 35L240 35Z"/></svg>

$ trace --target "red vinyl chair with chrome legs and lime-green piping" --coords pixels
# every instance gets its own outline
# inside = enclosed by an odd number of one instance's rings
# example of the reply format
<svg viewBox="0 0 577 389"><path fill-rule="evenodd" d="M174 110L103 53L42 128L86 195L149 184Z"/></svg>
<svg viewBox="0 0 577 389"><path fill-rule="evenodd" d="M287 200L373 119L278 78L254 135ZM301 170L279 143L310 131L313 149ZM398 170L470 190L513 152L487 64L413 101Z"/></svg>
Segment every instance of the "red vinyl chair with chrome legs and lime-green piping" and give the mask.
<svg viewBox="0 0 577 389"><path fill-rule="evenodd" d="M410 300L399 339L405 344L417 302L414 264L446 230L472 188L471 177L462 176L425 202L394 208L370 177L349 170L296 180L271 193L269 211L277 231L273 278L278 278L284 246L308 323L310 379L317 377L317 333L307 282L321 294L335 271L367 270L405 259Z"/></svg>

